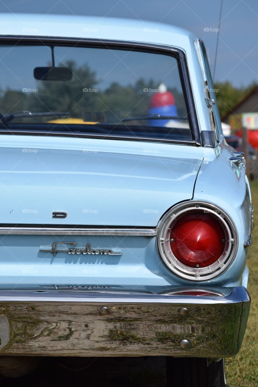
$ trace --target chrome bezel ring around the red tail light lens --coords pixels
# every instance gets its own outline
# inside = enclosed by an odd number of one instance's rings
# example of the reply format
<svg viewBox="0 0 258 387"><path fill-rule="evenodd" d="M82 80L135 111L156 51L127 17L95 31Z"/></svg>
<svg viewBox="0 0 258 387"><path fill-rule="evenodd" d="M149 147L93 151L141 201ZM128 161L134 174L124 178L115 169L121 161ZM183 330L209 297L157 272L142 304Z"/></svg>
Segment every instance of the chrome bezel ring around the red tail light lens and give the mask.
<svg viewBox="0 0 258 387"><path fill-rule="evenodd" d="M171 225L182 216L190 213L205 213L222 225L225 231L225 249L220 258L207 267L189 267L182 264L173 254L170 247ZM208 202L189 201L176 205L160 221L157 234L157 250L167 267L177 276L192 281L203 281L222 274L233 262L238 246L236 227L230 217L219 207Z"/></svg>

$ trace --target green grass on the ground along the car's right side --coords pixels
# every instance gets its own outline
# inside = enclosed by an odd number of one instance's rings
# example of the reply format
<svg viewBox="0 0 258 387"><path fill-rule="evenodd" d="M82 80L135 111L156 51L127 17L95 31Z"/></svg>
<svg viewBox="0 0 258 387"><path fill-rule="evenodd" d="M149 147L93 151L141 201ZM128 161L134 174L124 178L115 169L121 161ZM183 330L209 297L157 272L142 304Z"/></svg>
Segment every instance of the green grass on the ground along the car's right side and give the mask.
<svg viewBox="0 0 258 387"><path fill-rule="evenodd" d="M226 359L226 377L229 387L257 387L258 385L258 182L251 182L254 205L253 243L248 249L248 291L251 310L243 345L237 356Z"/></svg>

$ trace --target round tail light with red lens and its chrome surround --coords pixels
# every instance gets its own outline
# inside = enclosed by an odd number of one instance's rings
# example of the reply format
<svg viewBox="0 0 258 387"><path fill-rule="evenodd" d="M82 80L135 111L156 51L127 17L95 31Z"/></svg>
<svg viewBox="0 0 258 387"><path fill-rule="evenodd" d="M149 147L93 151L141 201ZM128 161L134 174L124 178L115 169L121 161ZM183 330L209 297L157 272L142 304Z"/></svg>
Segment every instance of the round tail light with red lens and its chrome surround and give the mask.
<svg viewBox="0 0 258 387"><path fill-rule="evenodd" d="M229 217L214 205L188 202L162 219L157 242L171 271L200 281L217 276L230 265L236 231Z"/></svg>

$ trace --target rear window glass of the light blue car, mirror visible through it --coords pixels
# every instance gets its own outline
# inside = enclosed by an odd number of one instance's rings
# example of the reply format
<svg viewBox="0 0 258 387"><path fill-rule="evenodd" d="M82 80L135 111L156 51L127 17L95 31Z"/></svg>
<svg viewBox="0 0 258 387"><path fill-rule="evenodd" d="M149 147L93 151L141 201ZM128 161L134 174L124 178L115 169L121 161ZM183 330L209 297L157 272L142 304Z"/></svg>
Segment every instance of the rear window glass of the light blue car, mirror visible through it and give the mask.
<svg viewBox="0 0 258 387"><path fill-rule="evenodd" d="M0 57L0 128L193 139L172 55L17 44Z"/></svg>

